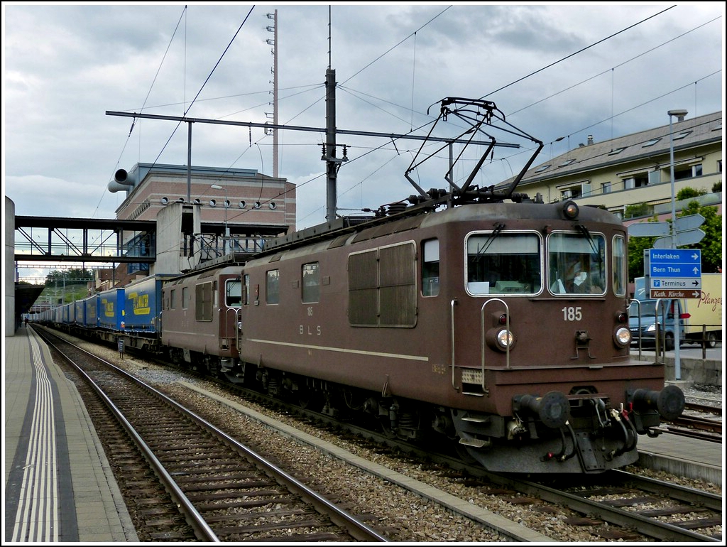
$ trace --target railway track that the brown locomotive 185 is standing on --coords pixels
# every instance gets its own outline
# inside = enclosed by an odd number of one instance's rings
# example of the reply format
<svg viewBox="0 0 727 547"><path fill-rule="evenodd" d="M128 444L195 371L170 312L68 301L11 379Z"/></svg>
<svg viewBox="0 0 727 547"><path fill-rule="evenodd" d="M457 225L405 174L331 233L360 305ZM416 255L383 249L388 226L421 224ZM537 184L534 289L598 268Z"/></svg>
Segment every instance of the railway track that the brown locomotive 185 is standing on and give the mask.
<svg viewBox="0 0 727 547"><path fill-rule="evenodd" d="M267 398L262 396L262 399ZM281 403L268 400L267 404L278 407ZM298 412L295 407L284 408L290 415ZM334 420L308 410L302 411L302 414L309 423L316 422L326 431L334 431L337 436L343 435L342 426ZM558 512L558 508L569 508L571 513L566 516L566 523L574 528L592 527L591 533L598 540L721 540L720 495L623 471L608 473L598 479L561 477L558 482L577 482L578 486L572 489L553 487L550 479L536 482L491 474L448 455L421 450L384 435L362 431L355 426L348 425L345 431L348 442L367 447L375 455L407 460L440 476L448 475L453 484L468 482L470 486L476 485L483 492L505 498L513 505L529 506L533 511L543 511L544 514ZM595 485L583 487L583 484ZM437 503L446 503L443 498L446 496L440 497L435 492L431 499ZM678 503L673 503L674 500ZM471 514L465 516L472 518Z"/></svg>

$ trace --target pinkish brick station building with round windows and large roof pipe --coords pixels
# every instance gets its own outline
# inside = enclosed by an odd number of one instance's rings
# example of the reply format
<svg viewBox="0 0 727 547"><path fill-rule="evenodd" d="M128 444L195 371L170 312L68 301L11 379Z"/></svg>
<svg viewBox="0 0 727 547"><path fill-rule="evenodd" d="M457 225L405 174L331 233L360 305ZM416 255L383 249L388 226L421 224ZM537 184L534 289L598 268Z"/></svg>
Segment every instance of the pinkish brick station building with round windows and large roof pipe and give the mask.
<svg viewBox="0 0 727 547"><path fill-rule="evenodd" d="M97 270L93 291L256 252L295 230L295 185L255 169L138 163L116 171L108 190L126 192L116 220L156 222L154 241L135 234L125 241L129 253L155 249L156 262L119 265L112 275Z"/></svg>

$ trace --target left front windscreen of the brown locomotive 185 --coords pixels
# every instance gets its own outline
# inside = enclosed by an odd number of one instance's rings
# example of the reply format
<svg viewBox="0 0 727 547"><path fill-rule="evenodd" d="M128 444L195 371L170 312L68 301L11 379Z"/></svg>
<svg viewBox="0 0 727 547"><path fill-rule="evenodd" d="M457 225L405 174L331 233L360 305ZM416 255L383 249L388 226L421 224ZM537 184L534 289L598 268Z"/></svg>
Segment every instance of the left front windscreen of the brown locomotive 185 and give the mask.
<svg viewBox="0 0 727 547"><path fill-rule="evenodd" d="M473 233L465 242L470 295L533 295L542 288L536 233Z"/></svg>

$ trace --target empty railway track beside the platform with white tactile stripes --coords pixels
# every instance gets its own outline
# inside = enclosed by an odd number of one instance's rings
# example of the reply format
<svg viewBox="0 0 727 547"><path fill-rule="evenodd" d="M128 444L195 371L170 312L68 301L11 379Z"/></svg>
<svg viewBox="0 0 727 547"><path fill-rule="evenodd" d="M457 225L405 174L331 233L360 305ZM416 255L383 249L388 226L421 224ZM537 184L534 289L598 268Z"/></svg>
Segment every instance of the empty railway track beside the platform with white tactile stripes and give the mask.
<svg viewBox="0 0 727 547"><path fill-rule="evenodd" d="M83 378L79 391L111 465L120 468L120 487L133 499L129 512L140 539L385 541L161 392L43 335Z"/></svg>

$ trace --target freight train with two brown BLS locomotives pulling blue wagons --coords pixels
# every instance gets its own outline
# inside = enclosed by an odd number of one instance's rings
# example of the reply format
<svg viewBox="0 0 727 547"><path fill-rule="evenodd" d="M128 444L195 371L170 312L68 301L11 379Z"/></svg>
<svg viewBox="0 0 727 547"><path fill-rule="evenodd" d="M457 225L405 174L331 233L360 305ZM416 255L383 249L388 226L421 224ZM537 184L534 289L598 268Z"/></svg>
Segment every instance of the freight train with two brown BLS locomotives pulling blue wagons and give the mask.
<svg viewBox="0 0 727 547"><path fill-rule="evenodd" d="M475 132L504 120L483 100L443 100L452 113ZM627 466L638 436L657 436L684 396L665 386L663 364L630 358L624 225L515 193L528 165L505 189L470 176L423 191L409 179L419 195L373 217L36 319L342 420L365 416L390 436L441 439L490 471Z"/></svg>

